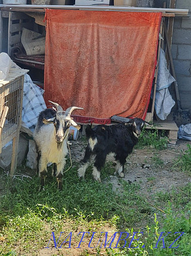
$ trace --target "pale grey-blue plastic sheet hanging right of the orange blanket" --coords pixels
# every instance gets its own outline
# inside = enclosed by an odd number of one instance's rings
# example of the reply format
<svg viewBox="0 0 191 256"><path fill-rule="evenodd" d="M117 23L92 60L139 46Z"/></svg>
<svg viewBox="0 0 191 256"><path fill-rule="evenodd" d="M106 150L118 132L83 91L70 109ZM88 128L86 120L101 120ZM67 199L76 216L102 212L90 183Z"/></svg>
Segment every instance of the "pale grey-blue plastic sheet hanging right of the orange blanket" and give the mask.
<svg viewBox="0 0 191 256"><path fill-rule="evenodd" d="M157 77L157 90L155 99L155 110L161 120L165 120L175 105L175 101L170 95L168 87L174 82L174 77L170 74L164 50L160 49L159 73Z"/></svg>

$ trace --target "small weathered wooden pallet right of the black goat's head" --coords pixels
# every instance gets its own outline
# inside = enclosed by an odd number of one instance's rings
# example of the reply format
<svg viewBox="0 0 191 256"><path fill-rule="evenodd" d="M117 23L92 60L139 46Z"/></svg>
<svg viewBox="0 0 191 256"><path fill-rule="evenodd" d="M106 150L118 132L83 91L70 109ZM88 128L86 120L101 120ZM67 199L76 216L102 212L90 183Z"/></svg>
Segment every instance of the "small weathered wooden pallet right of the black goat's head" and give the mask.
<svg viewBox="0 0 191 256"><path fill-rule="evenodd" d="M168 131L168 139L170 144L176 145L178 138L178 127L174 121L154 121L153 126L147 125L147 129L159 129Z"/></svg>

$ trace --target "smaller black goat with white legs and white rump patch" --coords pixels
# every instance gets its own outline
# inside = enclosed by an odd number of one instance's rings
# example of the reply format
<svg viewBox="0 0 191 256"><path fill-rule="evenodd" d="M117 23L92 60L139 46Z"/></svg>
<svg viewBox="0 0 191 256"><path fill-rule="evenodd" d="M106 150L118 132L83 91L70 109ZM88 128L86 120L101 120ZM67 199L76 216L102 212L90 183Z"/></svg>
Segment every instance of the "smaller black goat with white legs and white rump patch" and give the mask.
<svg viewBox="0 0 191 256"><path fill-rule="evenodd" d="M116 160L115 174L118 172L119 176L124 178L124 164L126 158L137 144L144 124L144 120L135 118L128 123L96 125L93 129L88 125L86 128L88 145L82 160L83 165L78 169L79 178L84 179L91 156L95 155L92 175L95 180L101 182L100 171L109 153L114 153Z"/></svg>

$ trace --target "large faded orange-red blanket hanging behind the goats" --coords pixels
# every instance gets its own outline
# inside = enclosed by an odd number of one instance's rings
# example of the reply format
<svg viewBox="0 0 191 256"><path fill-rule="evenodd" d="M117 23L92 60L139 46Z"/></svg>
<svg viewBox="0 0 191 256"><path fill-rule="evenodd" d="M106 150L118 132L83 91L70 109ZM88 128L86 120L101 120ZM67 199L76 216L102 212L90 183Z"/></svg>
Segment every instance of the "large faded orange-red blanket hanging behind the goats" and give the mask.
<svg viewBox="0 0 191 256"><path fill-rule="evenodd" d="M161 13L46 10L44 99L84 110L81 121L145 118Z"/></svg>

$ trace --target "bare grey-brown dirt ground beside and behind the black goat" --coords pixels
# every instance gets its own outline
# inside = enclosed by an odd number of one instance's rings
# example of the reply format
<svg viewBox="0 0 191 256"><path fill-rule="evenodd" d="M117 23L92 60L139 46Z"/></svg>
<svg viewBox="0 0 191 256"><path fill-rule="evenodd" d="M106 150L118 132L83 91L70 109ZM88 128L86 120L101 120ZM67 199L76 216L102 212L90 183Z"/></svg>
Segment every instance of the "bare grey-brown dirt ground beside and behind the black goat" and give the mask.
<svg viewBox="0 0 191 256"><path fill-rule="evenodd" d="M83 159L87 141L84 142L82 139L79 139L78 141L71 141L71 143L71 155L73 159L80 162ZM170 191L173 187L186 186L186 184L191 182L191 176L178 171L174 163L178 156L182 155L182 152L187 149L187 144L191 144L191 141L178 140L176 145L168 144L168 147L162 151L157 151L152 147L133 149L125 164L125 178L121 179L114 174L110 176L113 190L120 190L122 187L120 180L125 180L129 183L139 183L141 192L149 199L150 195L156 192L166 192Z"/></svg>

